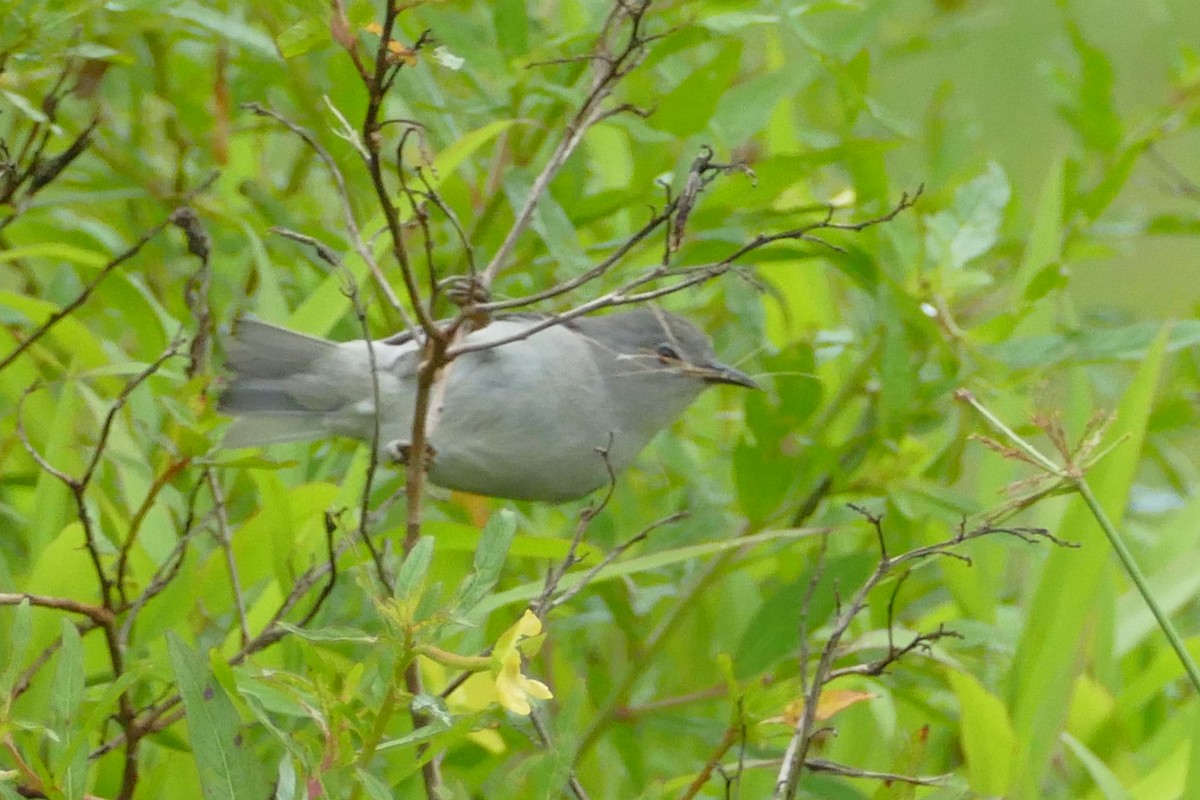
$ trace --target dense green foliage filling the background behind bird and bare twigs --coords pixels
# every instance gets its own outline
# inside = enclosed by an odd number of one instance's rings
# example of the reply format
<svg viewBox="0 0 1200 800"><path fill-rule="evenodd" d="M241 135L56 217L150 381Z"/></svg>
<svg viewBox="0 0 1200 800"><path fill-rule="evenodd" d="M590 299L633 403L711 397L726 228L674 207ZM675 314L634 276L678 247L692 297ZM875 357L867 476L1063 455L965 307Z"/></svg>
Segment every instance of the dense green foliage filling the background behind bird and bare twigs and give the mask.
<svg viewBox="0 0 1200 800"><path fill-rule="evenodd" d="M588 53L607 8L502 0L401 14L402 40L428 29L444 50L424 49L402 71L386 115L422 126L406 157L424 164L478 263L586 92L588 67L571 56ZM373 4L347 14L355 36L377 41ZM824 231L836 251L780 242L746 259L748 275L665 301L768 389L706 395L592 522L577 571L689 512L550 615L527 668L556 694L548 747L496 706L486 680L467 697L420 698L436 724L413 735L400 673L414 638L463 655L494 644L565 557L583 504L434 492L428 561L409 559L395 602L378 601L374 566L353 545L316 618L271 627L298 576L326 559L326 512L332 540L353 541L367 452L349 441L276 447L269 461L216 450L220 351L192 379L186 359L172 359L128 395L84 494L104 565L127 549L131 597L188 541L178 575L136 609L125 663L114 669L95 625L77 628L85 616L18 604L20 593L100 604L79 510L26 452L18 408L29 444L82 475L127 381L196 330L185 287L198 263L178 231L155 236L0 371L0 795L18 796L30 776L54 798L128 790L121 715L152 722L145 710L180 693L188 720L140 742L134 796L416 796L418 741L444 757L456 798L558 796L572 765L592 798L680 796L710 759L733 775L739 752L740 796L769 796L776 769L758 764L787 742L773 720L800 694L799 657L820 651L836 597L878 560L875 531L847 504L883 513L899 553L953 537L1038 474L972 440L995 432L955 399L960 389L1048 451L1036 414L1061 416L1074 439L1097 410L1117 413L1090 480L1196 652L1200 50L1187 32L1200 30L1198 14L1184 0L1133 18L1124 4L1016 0L652 7L649 32L664 37L616 101L653 114L614 115L587 134L499 296L602 259L662 203L660 180L678 191L704 144L718 161L745 160L756 180L736 173L702 196L678 264L817 221L830 204L854 222L919 185L924 194L889 223ZM191 205L211 236L217 323L254 313L359 335L344 278L272 235L278 225L341 252L371 330L398 327L352 252L319 160L240 108L262 103L311 131L347 175L361 229L380 230L367 173L340 136L340 118L355 127L366 96L325 4L10 2L0 53L5 158L19 160L35 126L53 155L98 119L56 180L0 206L0 221L16 215L0 228L0 359L212 173ZM42 97L67 64L95 80L50 125ZM385 131L394 157L398 131ZM466 271L450 223L436 215L434 230L440 273ZM384 239L372 246L388 265ZM638 249L610 285L660 255L660 242ZM402 482L378 477L373 506ZM392 542L390 569L402 506L372 525ZM961 638L835 684L871 698L827 721L836 735L812 753L949 777L914 788L809 774L802 796L1200 796L1196 694L1091 515L1063 495L1015 519L1080 547L996 536L960 549L970 565L922 563L899 591L896 636L944 624ZM458 590L463 581L488 588L479 597ZM320 585L282 621L294 626ZM893 589L856 620L846 663L877 657ZM235 596L251 636L283 634L245 660ZM452 676L426 664L431 692ZM720 751L731 726L739 744ZM725 790L714 772L695 796Z"/></svg>

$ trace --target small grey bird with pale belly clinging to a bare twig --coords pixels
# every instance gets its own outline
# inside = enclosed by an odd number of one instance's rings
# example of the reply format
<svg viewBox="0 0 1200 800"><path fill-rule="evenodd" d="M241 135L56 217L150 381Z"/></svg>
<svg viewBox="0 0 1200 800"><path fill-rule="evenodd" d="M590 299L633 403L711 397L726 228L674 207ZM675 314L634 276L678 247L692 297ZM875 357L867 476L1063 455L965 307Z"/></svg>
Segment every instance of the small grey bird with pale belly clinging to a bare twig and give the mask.
<svg viewBox="0 0 1200 800"><path fill-rule="evenodd" d="M464 344L545 320L498 317ZM380 447L412 437L418 345L373 343ZM251 319L227 343L233 379L221 410L227 447L344 435L371 440L374 403L364 339L329 342ZM713 384L755 387L715 360L708 337L658 308L583 317L455 360L430 445L438 486L512 500L583 497L624 469ZM607 459L607 464L605 463Z"/></svg>

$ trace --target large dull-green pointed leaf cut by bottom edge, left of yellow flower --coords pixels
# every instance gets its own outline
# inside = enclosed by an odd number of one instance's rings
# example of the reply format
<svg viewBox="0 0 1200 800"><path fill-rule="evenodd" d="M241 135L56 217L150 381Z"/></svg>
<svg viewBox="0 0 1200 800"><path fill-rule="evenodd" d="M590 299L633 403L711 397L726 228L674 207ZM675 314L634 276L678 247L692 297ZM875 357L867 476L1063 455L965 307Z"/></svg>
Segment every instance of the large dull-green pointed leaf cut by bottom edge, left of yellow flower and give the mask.
<svg viewBox="0 0 1200 800"><path fill-rule="evenodd" d="M204 660L174 633L167 634L172 668L187 712L192 756L205 800L262 800L270 783L242 733L233 702Z"/></svg>

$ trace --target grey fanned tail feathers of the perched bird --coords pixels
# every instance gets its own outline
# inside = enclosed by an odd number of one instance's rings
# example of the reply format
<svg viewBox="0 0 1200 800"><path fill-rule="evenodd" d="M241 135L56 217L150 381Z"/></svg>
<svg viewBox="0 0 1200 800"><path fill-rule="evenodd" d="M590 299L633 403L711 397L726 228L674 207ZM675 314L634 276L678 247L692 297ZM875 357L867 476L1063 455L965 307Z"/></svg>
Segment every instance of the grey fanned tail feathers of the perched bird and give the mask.
<svg viewBox="0 0 1200 800"><path fill-rule="evenodd" d="M328 408L305 391L319 380L317 362L337 344L253 319L241 319L226 342L232 380L220 409L236 417L224 446L250 447L314 439ZM317 401L317 402L314 402Z"/></svg>

